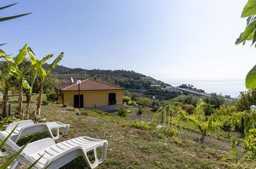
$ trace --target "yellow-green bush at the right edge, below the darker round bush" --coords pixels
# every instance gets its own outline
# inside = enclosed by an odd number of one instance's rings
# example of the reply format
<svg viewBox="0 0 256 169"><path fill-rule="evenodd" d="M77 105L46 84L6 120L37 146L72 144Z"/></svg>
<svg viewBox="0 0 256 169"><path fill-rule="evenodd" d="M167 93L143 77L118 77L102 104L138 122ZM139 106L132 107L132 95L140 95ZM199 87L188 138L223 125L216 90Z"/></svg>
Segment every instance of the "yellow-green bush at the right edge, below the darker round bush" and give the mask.
<svg viewBox="0 0 256 169"><path fill-rule="evenodd" d="M249 134L244 139L245 151L249 153L250 158L256 159L256 129L249 130Z"/></svg>

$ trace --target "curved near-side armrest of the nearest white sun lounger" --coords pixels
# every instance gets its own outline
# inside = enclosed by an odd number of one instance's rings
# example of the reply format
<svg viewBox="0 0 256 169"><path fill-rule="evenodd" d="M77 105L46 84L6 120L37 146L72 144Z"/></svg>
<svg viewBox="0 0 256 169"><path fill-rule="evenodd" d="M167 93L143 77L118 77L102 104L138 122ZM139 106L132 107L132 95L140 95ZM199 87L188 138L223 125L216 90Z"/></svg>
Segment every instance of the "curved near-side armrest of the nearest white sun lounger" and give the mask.
<svg viewBox="0 0 256 169"><path fill-rule="evenodd" d="M52 157L52 158L50 158L50 159L48 159L47 160L47 162L45 163L45 165L44 165L44 167L46 167L49 163L51 163L52 161L52 164L50 165L50 168L51 167L53 167L54 166L54 162L56 162L56 163L59 163L59 162L57 162L57 160L60 160L61 161L61 163L63 164L63 165L65 165L66 163L68 163L69 161L72 161L73 159L75 159L75 158L77 158L77 157L79 157L79 156L85 156L85 154L84 154L85 152L84 152L84 150L83 150L83 147L81 146L81 145L77 145L77 146L74 146L74 147L72 147L71 149L68 149L67 151L64 151L64 152L62 152L62 153L60 153L60 154L58 154L58 155L56 155L56 156L54 156L54 157ZM70 159L70 158L68 158L68 159L65 159L65 156L67 156L67 155L70 155L70 156L72 156L72 159ZM68 161L67 161L68 160ZM61 166L63 166L63 165L61 165ZM54 168L54 167L53 167Z"/></svg>

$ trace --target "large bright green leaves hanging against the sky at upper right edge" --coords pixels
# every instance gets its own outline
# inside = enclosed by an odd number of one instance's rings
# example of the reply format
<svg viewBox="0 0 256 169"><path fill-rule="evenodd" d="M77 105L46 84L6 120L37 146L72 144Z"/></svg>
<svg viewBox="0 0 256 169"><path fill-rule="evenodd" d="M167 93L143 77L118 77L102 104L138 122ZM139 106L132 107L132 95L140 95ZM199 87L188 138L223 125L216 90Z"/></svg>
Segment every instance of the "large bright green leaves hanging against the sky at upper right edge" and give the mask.
<svg viewBox="0 0 256 169"><path fill-rule="evenodd" d="M256 0L249 0L245 5L241 17L247 18L247 25L245 31L242 32L235 41L235 45L238 45L243 42L245 45L246 40L252 40L251 46L256 41ZM255 45L256 48L256 45ZM247 89L254 89L256 87L256 65L248 72L245 78L245 86Z"/></svg>

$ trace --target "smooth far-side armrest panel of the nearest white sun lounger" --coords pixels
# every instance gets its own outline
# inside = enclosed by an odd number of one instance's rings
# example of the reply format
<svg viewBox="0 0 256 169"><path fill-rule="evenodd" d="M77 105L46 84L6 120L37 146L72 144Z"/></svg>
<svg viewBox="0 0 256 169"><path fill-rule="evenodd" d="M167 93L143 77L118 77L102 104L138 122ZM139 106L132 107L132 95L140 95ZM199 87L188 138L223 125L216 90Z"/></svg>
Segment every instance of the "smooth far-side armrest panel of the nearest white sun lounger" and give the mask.
<svg viewBox="0 0 256 169"><path fill-rule="evenodd" d="M44 138L42 140L34 141L29 143L23 150L28 155L46 149L47 147L54 145L55 141L52 138Z"/></svg>

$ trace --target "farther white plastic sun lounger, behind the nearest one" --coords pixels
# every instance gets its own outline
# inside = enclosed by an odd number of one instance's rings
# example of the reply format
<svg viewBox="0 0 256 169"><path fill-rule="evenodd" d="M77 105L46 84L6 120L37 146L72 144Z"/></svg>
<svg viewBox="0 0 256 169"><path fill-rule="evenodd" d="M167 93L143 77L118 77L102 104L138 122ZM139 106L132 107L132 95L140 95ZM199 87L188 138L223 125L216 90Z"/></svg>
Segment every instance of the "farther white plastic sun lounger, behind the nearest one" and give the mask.
<svg viewBox="0 0 256 169"><path fill-rule="evenodd" d="M17 121L10 123L5 131L0 131L0 133L3 133L5 136L8 136L8 134L15 128L15 126L18 124L17 128L14 130L14 132L9 137L13 142L17 142L17 140L20 137L27 136L29 134L38 133L47 131L50 133L51 137L55 140L57 138L60 138L64 135L67 135L69 124L64 124L61 122L46 122L46 123L37 123L35 124L32 120L24 120L24 121ZM60 128L64 128L64 133L60 134ZM54 136L52 133L52 129L57 130L57 135ZM6 152L0 152L1 155L5 155Z"/></svg>

